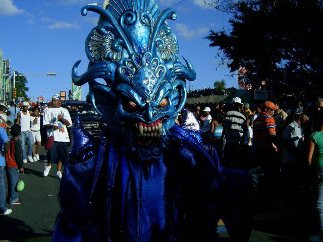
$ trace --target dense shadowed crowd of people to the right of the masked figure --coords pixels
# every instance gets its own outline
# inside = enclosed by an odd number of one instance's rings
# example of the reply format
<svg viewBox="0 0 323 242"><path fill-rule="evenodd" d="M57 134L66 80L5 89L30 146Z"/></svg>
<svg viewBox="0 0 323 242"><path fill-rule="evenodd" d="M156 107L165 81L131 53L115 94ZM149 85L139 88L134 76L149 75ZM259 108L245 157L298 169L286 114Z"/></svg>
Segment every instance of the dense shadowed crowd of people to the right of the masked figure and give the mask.
<svg viewBox="0 0 323 242"><path fill-rule="evenodd" d="M199 120L204 138L217 147L223 166L260 170L257 193L266 205L297 206L307 187L323 238L323 98L304 106L301 100L284 99L287 112L281 106L279 98L250 106L236 97L229 104L186 108Z"/></svg>

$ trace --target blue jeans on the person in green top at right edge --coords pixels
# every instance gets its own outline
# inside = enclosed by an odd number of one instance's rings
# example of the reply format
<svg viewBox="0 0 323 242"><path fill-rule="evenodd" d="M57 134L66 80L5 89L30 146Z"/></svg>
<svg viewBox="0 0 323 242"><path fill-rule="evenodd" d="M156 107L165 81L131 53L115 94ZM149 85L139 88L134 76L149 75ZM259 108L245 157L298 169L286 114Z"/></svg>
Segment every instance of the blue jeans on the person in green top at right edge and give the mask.
<svg viewBox="0 0 323 242"><path fill-rule="evenodd" d="M315 172L315 207L318 212L319 229L323 231L323 167Z"/></svg>

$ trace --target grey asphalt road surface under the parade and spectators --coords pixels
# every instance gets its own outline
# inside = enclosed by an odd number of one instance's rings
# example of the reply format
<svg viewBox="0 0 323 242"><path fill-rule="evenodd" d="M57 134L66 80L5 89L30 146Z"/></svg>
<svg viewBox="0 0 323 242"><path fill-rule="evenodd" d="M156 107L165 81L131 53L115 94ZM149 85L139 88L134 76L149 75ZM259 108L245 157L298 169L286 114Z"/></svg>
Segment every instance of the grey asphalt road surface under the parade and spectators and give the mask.
<svg viewBox="0 0 323 242"><path fill-rule="evenodd" d="M50 241L56 216L60 211L58 199L59 179L55 177L57 164L47 177L42 172L46 166L45 150L40 151L41 161L26 163L23 180L25 189L20 192L22 205L8 205L13 212L0 217L0 242ZM250 242L262 241L308 241L302 236L312 221L300 212L278 208L266 212L255 212ZM219 241L232 241L223 223L219 223Z"/></svg>

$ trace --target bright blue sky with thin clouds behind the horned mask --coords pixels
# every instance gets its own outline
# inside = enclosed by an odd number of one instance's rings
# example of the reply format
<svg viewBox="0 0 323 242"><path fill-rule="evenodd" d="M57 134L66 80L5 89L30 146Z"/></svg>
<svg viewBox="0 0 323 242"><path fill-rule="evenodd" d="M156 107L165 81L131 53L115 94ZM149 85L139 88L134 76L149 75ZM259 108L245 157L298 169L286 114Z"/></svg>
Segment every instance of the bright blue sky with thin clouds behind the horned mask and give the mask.
<svg viewBox="0 0 323 242"><path fill-rule="evenodd" d="M0 0L0 48L4 57L11 59L11 67L23 74L56 72L57 76L29 76L28 96L42 94L50 98L52 89L71 89L71 68L79 59L79 74L87 69L88 59L84 44L90 30L96 26L98 15L81 16L86 4L103 0ZM160 9L166 9L180 0L156 0ZM210 29L228 29L228 16L205 7L204 0L186 0L174 7L176 21L168 21L177 35L180 56L187 57L196 69L193 89L213 85L225 79L227 87L236 86L231 73L219 66L216 48L203 39ZM183 62L183 59L180 59ZM49 88L48 88L49 87ZM52 88L52 89L51 89ZM83 99L88 93L82 87Z"/></svg>

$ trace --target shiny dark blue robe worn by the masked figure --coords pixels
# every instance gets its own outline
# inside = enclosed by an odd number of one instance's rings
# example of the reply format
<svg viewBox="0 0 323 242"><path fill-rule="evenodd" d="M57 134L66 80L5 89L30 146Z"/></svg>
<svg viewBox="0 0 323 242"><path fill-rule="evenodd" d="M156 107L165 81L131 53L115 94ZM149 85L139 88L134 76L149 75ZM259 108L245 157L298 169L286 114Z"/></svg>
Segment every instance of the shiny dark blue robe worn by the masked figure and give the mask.
<svg viewBox="0 0 323 242"><path fill-rule="evenodd" d="M73 149L52 241L213 241L208 221L216 223L221 210L238 211L219 201L237 184L246 187L246 172L221 168L216 150L181 127L170 132L169 147L151 161L130 155L107 132L97 146Z"/></svg>

